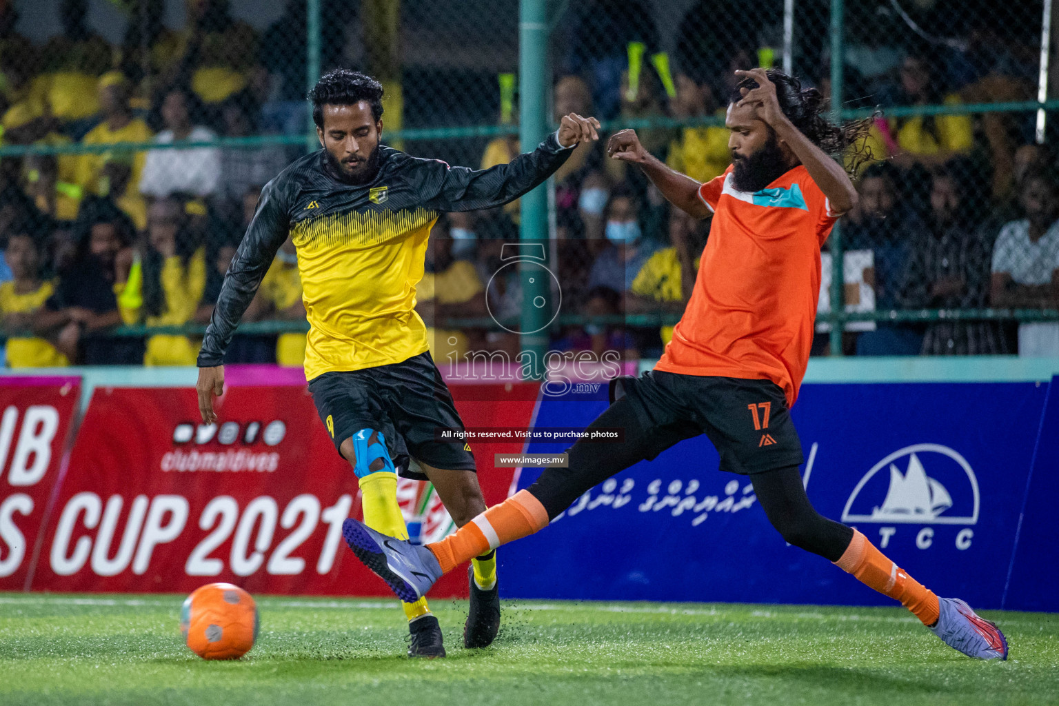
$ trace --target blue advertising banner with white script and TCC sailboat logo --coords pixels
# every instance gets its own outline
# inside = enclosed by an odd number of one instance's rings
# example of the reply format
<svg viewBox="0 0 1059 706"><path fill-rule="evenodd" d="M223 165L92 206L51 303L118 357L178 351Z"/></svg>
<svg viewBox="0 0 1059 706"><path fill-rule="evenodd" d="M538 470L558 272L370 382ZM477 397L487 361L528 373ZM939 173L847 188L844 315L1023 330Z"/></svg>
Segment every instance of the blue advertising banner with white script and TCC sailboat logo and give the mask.
<svg viewBox="0 0 1059 706"><path fill-rule="evenodd" d="M792 417L809 497L939 595L1000 608L1047 390L806 384ZM536 426L584 427L606 404L545 398ZM505 597L892 604L788 546L750 478L717 468L700 436L593 488L552 526L501 553ZM523 469L519 488L538 475Z"/></svg>

